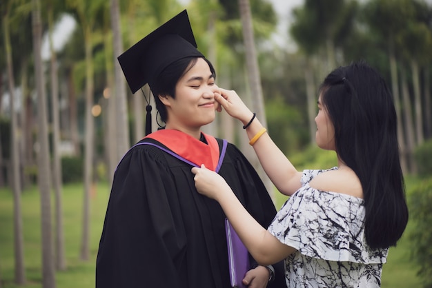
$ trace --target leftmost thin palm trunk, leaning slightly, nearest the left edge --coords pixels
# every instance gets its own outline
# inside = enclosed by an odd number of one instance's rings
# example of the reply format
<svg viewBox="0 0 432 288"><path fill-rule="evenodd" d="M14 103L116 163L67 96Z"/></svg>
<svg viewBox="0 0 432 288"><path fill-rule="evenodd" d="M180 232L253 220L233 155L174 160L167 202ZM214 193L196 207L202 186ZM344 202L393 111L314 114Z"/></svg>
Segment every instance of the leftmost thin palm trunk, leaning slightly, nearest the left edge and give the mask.
<svg viewBox="0 0 432 288"><path fill-rule="evenodd" d="M26 283L26 270L24 268L23 224L21 214L21 185L19 176L19 146L17 145L17 114L14 107L14 73L12 68L12 49L10 45L9 17L3 16L4 42L6 45L6 62L8 65L8 84L10 94L10 150L12 152L12 189L14 193L14 252L15 252L15 283Z"/></svg>

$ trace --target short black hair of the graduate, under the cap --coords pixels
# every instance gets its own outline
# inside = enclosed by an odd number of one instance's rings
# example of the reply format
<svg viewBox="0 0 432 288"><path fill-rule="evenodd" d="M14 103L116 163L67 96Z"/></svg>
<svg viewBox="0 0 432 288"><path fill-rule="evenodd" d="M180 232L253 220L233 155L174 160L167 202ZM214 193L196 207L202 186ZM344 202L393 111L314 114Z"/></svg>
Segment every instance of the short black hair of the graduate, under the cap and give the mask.
<svg viewBox="0 0 432 288"><path fill-rule="evenodd" d="M213 68L212 63L204 57L203 59L208 63L213 78L216 78L215 68ZM156 109L159 112L162 121L166 122L168 119L168 113L166 112L164 103L161 102L158 95L171 96L175 98L175 85L177 85L177 82L182 76L184 76L184 74L193 68L197 61L197 57L185 57L179 59L168 65L168 67L159 73L155 78L155 81L150 83L150 89L153 92L153 96L155 96Z"/></svg>

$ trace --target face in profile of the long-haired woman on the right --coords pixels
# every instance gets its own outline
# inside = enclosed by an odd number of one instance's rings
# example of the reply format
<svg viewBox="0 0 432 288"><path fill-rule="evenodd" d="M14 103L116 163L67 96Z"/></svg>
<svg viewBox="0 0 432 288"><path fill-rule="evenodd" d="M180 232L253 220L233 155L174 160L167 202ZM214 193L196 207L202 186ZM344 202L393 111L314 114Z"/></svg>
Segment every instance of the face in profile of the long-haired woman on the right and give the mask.
<svg viewBox="0 0 432 288"><path fill-rule="evenodd" d="M317 132L315 141L318 147L325 150L335 150L335 129L333 123L328 117L326 108L322 105L321 95L318 98L318 114L315 117Z"/></svg>

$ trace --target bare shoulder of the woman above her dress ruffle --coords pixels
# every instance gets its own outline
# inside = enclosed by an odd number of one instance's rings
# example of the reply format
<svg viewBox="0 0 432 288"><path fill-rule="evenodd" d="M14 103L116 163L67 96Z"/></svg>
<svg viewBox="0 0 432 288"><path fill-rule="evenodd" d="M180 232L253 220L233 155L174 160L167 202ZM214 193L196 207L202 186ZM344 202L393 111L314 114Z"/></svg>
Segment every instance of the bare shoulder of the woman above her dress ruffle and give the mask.
<svg viewBox="0 0 432 288"><path fill-rule="evenodd" d="M322 191L337 192L363 198L363 189L360 179L351 169L323 172L315 176L309 185Z"/></svg>

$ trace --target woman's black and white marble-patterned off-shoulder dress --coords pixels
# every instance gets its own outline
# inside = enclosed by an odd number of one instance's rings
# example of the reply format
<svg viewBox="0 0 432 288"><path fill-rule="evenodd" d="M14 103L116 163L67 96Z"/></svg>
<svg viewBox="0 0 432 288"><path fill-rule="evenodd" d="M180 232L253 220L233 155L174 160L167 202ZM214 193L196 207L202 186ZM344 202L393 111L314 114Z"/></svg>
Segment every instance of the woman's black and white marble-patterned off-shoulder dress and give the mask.
<svg viewBox="0 0 432 288"><path fill-rule="evenodd" d="M268 227L282 243L297 249L284 260L286 285L380 287L388 249L366 244L361 198L309 186L324 171L304 170L302 187Z"/></svg>

